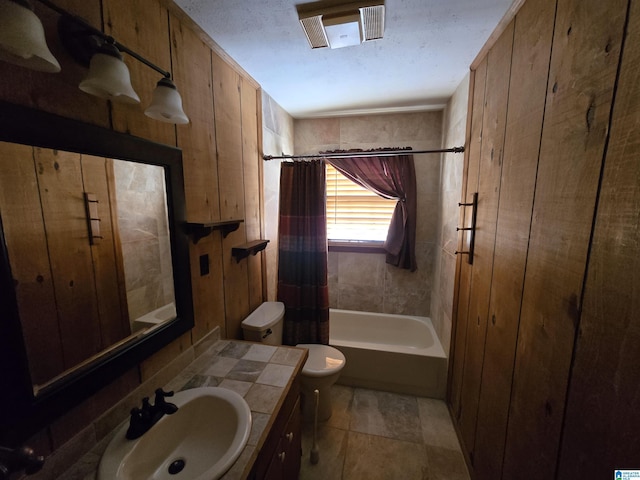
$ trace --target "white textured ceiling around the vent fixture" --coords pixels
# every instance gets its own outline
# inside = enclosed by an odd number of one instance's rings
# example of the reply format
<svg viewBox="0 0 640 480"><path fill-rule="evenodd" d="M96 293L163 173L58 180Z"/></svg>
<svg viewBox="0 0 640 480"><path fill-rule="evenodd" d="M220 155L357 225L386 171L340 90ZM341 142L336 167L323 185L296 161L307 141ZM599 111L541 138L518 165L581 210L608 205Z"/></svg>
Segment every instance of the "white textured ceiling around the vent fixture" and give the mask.
<svg viewBox="0 0 640 480"><path fill-rule="evenodd" d="M309 47L296 10L304 1L175 2L305 118L442 108L512 0L386 0L383 39L335 50Z"/></svg>

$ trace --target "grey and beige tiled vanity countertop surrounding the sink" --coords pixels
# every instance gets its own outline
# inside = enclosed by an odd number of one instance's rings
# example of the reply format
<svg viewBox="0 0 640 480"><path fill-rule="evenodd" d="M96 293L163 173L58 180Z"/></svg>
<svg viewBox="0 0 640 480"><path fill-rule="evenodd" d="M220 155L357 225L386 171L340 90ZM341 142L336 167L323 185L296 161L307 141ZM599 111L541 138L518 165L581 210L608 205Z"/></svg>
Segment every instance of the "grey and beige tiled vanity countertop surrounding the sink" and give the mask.
<svg viewBox="0 0 640 480"><path fill-rule="evenodd" d="M165 390L174 391L205 386L228 388L242 395L249 404L252 416L249 440L222 479L244 479L248 476L306 358L306 350L299 348L220 340L163 386ZM94 479L100 456L117 430L115 428L91 452L57 478Z"/></svg>

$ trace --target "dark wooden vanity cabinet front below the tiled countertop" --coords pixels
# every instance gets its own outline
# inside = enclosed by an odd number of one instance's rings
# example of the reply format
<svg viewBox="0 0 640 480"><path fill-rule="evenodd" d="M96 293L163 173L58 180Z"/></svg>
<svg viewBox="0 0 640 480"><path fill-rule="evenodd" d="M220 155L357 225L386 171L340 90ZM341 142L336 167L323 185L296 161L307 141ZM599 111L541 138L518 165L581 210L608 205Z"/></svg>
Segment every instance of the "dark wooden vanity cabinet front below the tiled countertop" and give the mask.
<svg viewBox="0 0 640 480"><path fill-rule="evenodd" d="M300 379L293 381L249 475L251 480L295 480L302 457Z"/></svg>

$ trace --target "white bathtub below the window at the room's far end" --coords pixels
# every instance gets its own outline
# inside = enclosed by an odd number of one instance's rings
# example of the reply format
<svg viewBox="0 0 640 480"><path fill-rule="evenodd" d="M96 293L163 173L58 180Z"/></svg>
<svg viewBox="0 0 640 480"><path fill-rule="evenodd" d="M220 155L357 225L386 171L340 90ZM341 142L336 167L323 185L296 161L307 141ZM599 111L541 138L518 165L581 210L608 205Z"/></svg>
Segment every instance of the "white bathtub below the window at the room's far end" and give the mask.
<svg viewBox="0 0 640 480"><path fill-rule="evenodd" d="M329 311L329 344L347 361L338 383L444 399L447 356L428 317Z"/></svg>

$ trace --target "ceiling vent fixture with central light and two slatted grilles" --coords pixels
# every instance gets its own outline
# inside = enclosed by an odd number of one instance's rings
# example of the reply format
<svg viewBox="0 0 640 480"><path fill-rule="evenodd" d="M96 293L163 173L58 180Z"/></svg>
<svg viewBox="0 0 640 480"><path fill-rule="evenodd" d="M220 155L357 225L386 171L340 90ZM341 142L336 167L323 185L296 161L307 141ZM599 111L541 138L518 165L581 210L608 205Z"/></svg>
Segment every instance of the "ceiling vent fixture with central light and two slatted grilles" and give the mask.
<svg viewBox="0 0 640 480"><path fill-rule="evenodd" d="M375 0L374 0L375 1ZM378 40L384 34L384 3L356 2L298 5L298 16L311 48L342 48ZM306 7L313 6L313 10Z"/></svg>

